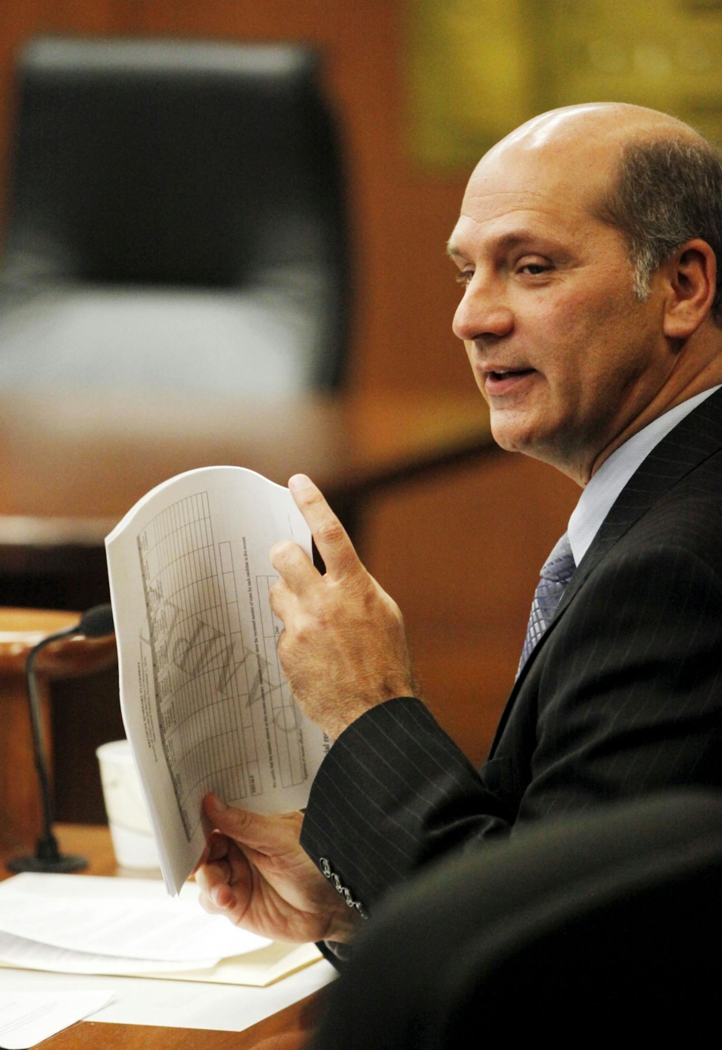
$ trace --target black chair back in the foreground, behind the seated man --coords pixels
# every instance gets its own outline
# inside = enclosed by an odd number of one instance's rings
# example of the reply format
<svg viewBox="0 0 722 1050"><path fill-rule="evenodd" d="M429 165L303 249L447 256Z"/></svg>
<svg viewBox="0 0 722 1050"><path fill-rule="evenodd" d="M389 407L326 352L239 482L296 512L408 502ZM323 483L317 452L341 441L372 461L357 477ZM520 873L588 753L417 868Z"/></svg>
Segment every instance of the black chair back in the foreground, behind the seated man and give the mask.
<svg viewBox="0 0 722 1050"><path fill-rule="evenodd" d="M375 909L310 1050L704 1045L721 920L719 792L537 824Z"/></svg>

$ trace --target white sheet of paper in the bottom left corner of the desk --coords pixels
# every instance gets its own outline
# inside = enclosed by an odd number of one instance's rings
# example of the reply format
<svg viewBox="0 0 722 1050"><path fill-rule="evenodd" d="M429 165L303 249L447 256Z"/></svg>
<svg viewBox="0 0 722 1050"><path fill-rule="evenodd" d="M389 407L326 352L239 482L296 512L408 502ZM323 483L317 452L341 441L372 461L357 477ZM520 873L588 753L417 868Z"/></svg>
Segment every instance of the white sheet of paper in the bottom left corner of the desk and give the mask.
<svg viewBox="0 0 722 1050"><path fill-rule="evenodd" d="M0 991L0 1047L27 1050L95 1013L111 991Z"/></svg>

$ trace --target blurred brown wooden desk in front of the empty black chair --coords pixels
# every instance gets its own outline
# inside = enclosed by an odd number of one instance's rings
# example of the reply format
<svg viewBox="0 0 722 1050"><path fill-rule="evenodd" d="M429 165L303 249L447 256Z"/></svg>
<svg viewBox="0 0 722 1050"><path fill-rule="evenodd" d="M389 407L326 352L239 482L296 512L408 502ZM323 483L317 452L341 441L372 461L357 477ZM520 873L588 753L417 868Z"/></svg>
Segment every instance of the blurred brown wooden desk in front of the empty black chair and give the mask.
<svg viewBox="0 0 722 1050"><path fill-rule="evenodd" d="M281 484L303 471L353 525L370 492L495 447L473 391L463 399L397 393L261 403L6 395L0 418L3 601L52 608L105 601L103 538L141 496L183 470L237 464ZM14 578L24 593L8 590ZM33 593L43 578L55 590ZM68 580L75 593L63 587Z"/></svg>

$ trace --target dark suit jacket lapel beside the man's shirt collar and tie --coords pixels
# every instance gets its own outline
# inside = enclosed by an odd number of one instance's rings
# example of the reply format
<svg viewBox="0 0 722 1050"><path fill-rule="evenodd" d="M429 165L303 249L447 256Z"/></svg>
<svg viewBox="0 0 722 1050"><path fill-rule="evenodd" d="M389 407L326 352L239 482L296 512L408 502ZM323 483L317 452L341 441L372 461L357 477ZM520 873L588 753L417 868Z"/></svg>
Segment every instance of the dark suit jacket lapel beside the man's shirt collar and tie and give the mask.
<svg viewBox="0 0 722 1050"><path fill-rule="evenodd" d="M521 675L512 687L494 734L489 757L496 749L514 701L538 656L539 650L570 602L583 587L593 569L661 496L721 448L722 390L706 398L701 405L685 416L681 423L671 430L659 444L655 445L619 494L565 590L554 613L554 618L529 655Z"/></svg>

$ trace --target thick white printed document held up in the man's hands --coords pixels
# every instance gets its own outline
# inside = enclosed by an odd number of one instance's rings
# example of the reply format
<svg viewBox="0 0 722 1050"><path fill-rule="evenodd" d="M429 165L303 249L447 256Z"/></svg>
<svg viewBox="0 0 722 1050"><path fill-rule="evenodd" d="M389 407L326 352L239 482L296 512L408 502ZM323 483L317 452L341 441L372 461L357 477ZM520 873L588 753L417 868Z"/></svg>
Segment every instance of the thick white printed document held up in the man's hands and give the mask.
<svg viewBox="0 0 722 1050"><path fill-rule="evenodd" d="M311 555L289 490L231 466L164 482L106 539L123 720L170 894L203 852L207 792L300 808L330 747L278 663L269 551L281 539Z"/></svg>

